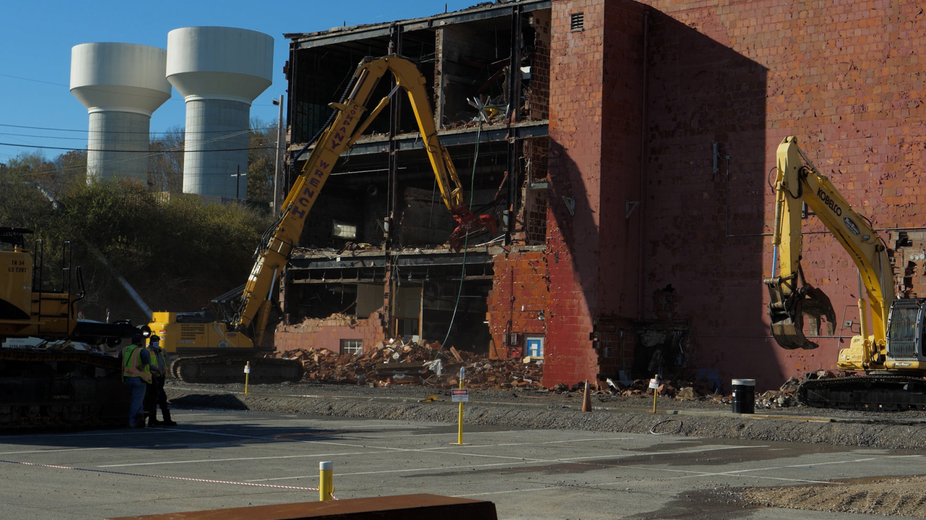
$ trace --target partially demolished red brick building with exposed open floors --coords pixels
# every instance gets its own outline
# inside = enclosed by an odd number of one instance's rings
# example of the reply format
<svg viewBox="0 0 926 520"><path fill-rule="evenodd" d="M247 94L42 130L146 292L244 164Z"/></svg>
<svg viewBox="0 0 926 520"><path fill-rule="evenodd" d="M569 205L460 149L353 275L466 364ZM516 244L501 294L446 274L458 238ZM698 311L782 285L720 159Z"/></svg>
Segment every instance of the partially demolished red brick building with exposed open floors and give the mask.
<svg viewBox="0 0 926 520"><path fill-rule="evenodd" d="M895 247L898 293L926 295L923 19L907 0L522 0L288 34L290 157L361 58L405 56L499 232L450 250L410 107L394 103L307 218L277 348L446 339L543 356L546 386L683 371L761 390L834 367L857 333L857 275L812 214L805 272L842 321L816 351L770 336L775 149L797 135Z"/></svg>

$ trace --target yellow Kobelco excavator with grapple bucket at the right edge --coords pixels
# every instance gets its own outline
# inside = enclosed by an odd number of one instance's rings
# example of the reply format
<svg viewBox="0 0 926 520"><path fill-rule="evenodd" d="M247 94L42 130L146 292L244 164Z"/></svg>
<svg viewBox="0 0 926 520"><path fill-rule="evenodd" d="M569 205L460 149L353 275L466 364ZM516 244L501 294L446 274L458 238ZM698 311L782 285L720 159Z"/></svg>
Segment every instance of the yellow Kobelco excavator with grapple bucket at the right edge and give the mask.
<svg viewBox="0 0 926 520"><path fill-rule="evenodd" d="M818 347L804 333L804 315L811 318L811 334L819 333L821 316L826 316L831 336L835 323L830 299L807 284L800 266L803 203L820 217L858 268L860 334L849 348L839 351L836 365L864 371L865 376L806 380L797 390L798 401L857 410L926 408L924 300L894 299L893 271L882 237L814 167L795 137L778 146L777 163L773 278L765 279L765 284L771 297L771 332L778 344L785 349Z"/></svg>

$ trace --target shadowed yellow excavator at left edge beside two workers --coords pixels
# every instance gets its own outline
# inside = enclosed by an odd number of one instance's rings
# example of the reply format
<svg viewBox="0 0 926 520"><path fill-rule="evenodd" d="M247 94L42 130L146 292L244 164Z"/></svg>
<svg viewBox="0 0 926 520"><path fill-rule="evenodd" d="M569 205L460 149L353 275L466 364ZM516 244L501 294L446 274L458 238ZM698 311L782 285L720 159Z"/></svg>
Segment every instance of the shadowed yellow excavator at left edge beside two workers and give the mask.
<svg viewBox="0 0 926 520"><path fill-rule="evenodd" d="M79 266L71 269L70 243L55 280L60 286L48 288L52 273L44 268L42 241L27 247L31 232L0 228L0 342L41 341L0 348L0 430L126 427L130 399L119 358L103 351L146 327L78 319L83 279Z"/></svg>

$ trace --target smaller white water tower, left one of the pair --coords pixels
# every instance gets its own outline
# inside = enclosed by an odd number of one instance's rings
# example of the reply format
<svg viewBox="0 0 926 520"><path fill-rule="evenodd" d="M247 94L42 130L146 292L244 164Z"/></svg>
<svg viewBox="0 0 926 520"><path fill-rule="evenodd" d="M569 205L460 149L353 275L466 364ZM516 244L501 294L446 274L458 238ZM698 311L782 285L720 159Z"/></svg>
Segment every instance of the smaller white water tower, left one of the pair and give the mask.
<svg viewBox="0 0 926 520"><path fill-rule="evenodd" d="M151 114L170 97L167 51L135 43L70 50L70 92L87 107L87 180L148 176Z"/></svg>

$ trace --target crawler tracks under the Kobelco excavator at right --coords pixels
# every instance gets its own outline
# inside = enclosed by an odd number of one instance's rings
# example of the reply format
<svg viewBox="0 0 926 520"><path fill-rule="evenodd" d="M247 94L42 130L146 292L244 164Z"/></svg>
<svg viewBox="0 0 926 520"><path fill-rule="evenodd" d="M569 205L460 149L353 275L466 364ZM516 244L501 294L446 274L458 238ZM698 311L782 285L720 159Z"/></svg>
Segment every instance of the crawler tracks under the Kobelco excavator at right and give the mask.
<svg viewBox="0 0 926 520"><path fill-rule="evenodd" d="M810 379L797 388L797 401L842 410L926 410L926 379L881 375Z"/></svg>

